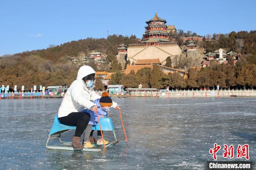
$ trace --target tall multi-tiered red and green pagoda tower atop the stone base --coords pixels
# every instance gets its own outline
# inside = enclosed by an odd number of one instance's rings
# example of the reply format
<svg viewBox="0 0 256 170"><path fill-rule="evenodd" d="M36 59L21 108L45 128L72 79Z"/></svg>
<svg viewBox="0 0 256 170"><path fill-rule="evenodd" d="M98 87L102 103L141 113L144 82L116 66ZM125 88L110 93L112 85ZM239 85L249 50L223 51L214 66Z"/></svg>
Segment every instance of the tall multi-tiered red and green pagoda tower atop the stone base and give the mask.
<svg viewBox="0 0 256 170"><path fill-rule="evenodd" d="M146 21L146 31L143 34L142 43L170 42L167 32L166 20L161 19L155 13L155 17ZM155 44L152 44L155 45Z"/></svg>

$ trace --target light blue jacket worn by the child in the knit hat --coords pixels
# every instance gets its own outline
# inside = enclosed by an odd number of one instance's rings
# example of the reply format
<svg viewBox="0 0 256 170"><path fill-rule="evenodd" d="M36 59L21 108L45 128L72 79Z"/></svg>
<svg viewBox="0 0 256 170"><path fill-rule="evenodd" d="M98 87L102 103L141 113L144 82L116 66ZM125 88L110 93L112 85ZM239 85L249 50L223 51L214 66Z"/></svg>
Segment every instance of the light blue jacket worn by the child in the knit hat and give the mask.
<svg viewBox="0 0 256 170"><path fill-rule="evenodd" d="M99 104L99 98L96 99L94 102L93 102L97 107L99 106L98 108L98 115L99 115L99 119L101 119L101 115L103 116L107 116L108 115L108 112L105 112L104 109L101 107L101 105ZM90 118L90 121L89 121L89 124L91 125L96 125L98 123L98 117L97 117L97 114L96 112L93 112L89 109L85 109L86 113L89 113L91 118Z"/></svg>

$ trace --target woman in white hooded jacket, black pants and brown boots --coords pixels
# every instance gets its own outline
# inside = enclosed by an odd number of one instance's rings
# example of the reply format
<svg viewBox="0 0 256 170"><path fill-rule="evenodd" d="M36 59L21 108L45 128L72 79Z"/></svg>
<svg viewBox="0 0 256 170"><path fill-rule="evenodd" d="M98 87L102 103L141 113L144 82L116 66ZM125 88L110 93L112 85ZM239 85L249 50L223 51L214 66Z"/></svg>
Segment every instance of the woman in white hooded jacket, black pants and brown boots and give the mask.
<svg viewBox="0 0 256 170"><path fill-rule="evenodd" d="M61 124L76 126L75 135L72 138L72 147L75 150L83 149L80 142L81 135L86 129L90 115L85 113L85 109L96 111L97 106L93 103L97 98L101 98L93 90L95 71L90 66L82 66L78 70L78 76L68 88L61 103L58 117ZM111 107L118 108L113 102Z"/></svg>

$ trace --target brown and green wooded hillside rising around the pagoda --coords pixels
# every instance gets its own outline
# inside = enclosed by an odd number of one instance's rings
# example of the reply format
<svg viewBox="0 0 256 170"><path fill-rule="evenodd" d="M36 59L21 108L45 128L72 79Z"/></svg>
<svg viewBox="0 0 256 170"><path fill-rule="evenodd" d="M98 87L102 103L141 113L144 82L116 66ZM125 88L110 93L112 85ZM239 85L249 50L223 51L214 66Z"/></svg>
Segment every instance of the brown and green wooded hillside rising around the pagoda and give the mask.
<svg viewBox="0 0 256 170"><path fill-rule="evenodd" d="M179 33L172 35L170 38L176 38L177 42L184 46L186 42L180 41L183 35ZM129 45L136 42L138 42L138 39L133 35L130 37L110 35L107 39L81 39L47 49L25 51L1 57L0 83L5 86L10 85L10 90L14 85L17 85L18 90L21 89L22 85L25 85L25 90L30 89L33 85L69 86L75 80L77 71L81 66L72 63L72 58L79 60L79 55L87 56L91 51L100 51L108 55L106 64L113 61L113 65L117 65L115 55L117 54L118 45L121 43ZM196 43L201 55L222 48L241 54L248 64L256 64L256 31L240 31L237 33L233 31L226 35L214 34L212 41L206 41L204 38L202 42ZM189 68L193 66L191 61L184 58L184 56L181 57L183 57L183 61L173 67ZM177 60L179 59L181 58L177 57ZM109 65L102 66L102 69L109 70Z"/></svg>

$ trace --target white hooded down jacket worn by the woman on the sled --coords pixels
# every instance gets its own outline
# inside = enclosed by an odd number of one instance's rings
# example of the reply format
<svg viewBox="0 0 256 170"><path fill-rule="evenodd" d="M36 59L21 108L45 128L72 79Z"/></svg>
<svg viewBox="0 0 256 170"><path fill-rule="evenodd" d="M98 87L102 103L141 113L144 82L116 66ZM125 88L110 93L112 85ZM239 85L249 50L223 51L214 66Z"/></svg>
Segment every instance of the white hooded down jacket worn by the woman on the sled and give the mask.
<svg viewBox="0 0 256 170"><path fill-rule="evenodd" d="M82 80L82 78L92 73L95 73L95 71L90 66L80 67L76 80L72 82L63 98L58 117L67 116L72 112L83 112L84 109L91 109L95 105L93 101L101 98L101 96L94 92L94 85L88 89ZM116 107L116 105L117 103L113 102L111 107Z"/></svg>

